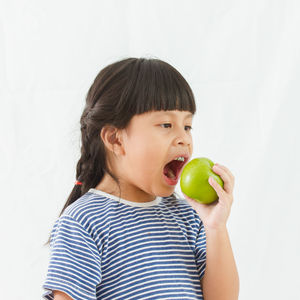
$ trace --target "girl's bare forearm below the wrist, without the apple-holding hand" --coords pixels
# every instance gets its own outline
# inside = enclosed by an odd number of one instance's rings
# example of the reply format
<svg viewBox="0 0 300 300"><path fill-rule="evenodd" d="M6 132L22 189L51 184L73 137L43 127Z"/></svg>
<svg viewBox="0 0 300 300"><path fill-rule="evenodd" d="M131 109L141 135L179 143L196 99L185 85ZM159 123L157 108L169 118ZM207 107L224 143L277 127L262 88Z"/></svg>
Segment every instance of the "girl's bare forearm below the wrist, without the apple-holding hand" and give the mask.
<svg viewBox="0 0 300 300"><path fill-rule="evenodd" d="M226 227L206 228L206 268L202 278L205 300L235 300L239 277Z"/></svg>

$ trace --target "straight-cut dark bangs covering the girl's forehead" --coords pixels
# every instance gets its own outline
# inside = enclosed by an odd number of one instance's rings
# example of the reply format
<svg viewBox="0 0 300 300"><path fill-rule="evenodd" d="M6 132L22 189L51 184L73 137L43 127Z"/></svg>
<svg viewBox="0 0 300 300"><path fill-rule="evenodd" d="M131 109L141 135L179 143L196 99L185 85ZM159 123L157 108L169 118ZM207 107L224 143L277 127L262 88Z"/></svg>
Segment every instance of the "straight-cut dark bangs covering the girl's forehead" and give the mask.
<svg viewBox="0 0 300 300"><path fill-rule="evenodd" d="M179 110L196 112L193 92L183 76L171 65L159 59L140 59L130 75L133 90L128 99L131 113ZM130 81L130 80L129 80Z"/></svg>

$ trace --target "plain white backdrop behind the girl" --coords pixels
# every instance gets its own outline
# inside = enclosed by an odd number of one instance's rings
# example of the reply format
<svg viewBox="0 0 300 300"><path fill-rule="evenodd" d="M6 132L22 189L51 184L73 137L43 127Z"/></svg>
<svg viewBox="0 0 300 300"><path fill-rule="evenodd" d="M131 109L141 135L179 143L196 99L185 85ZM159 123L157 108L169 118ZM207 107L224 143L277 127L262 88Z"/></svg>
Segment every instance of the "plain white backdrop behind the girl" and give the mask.
<svg viewBox="0 0 300 300"><path fill-rule="evenodd" d="M300 299L299 16L298 0L1 1L1 299L41 299L86 93L126 57L181 72L197 101L193 158L235 175L239 299Z"/></svg>

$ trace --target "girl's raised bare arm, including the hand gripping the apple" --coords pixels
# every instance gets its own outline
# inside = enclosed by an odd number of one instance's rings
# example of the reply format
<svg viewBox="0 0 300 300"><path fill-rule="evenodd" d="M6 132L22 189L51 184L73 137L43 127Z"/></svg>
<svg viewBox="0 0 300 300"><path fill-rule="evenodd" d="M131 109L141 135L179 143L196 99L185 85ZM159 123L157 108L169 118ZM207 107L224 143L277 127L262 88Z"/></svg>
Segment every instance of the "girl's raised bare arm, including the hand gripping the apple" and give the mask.
<svg viewBox="0 0 300 300"><path fill-rule="evenodd" d="M209 179L209 184L219 197L218 201L207 205L185 195L205 229L206 267L201 285L205 300L237 300L239 277L226 227L233 202L234 176L220 164L214 165L213 171L224 182L223 189L215 180Z"/></svg>

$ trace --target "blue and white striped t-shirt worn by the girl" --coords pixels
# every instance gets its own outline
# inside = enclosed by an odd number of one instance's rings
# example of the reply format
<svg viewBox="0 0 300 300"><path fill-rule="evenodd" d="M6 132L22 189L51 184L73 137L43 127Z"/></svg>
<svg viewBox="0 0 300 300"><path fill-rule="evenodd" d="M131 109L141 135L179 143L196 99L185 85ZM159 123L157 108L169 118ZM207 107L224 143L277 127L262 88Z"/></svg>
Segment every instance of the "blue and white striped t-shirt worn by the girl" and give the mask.
<svg viewBox="0 0 300 300"><path fill-rule="evenodd" d="M202 221L185 199L146 203L91 188L51 232L44 299L203 299Z"/></svg>

